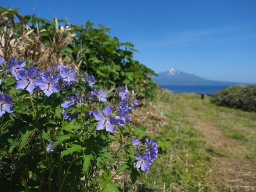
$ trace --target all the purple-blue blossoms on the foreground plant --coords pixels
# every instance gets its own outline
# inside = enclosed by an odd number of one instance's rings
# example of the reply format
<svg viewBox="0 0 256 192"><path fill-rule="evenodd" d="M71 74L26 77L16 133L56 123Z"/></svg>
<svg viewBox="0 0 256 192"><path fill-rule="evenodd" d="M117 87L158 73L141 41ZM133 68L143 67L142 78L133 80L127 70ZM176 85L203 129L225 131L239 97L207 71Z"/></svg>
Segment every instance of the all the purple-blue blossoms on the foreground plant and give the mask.
<svg viewBox="0 0 256 192"><path fill-rule="evenodd" d="M77 79L80 76L80 80L82 82L86 82L87 86L93 88L95 83L94 76L86 75L82 78L82 74L76 76L76 71L74 69L69 69L65 65L54 66L54 68L49 67L49 71L38 71L38 69L34 66L28 67L26 69L25 61L15 61L15 58L11 59L11 64L7 65L7 62L0 58L0 69L4 71L10 71L11 74L17 80L15 84L15 89L26 89L29 94L33 95L34 90L42 91L46 97L50 97L52 93L59 92L62 88L66 86L71 86L74 82L77 82ZM0 74L2 75L2 73ZM0 84L2 83L2 79ZM84 94L84 95L83 95ZM116 127L123 127L127 122L131 122L132 118L129 116L132 109L137 110L138 102L137 99L130 99L129 91L126 90L125 87L119 88L117 94L119 104L112 107L110 105L106 105L101 110L91 110L87 114L87 118L95 118L97 122L96 130L106 130L107 132L114 133ZM101 102L107 102L108 94L104 92L102 89L94 89L93 91L82 93L79 92L68 96L66 101L61 103L61 107L65 111L62 115L62 118L72 121L74 118L78 116L78 110L73 110L75 112L70 112L73 107L77 107L78 105L89 105L89 103L93 103L92 109L95 109L95 105L100 107L102 105ZM88 100L85 98L89 97ZM11 102L12 98L7 94L0 94L0 117L7 113L12 113L14 110L12 108ZM87 103L86 103L87 102ZM83 106L81 106L83 108ZM97 107L96 107L97 108ZM70 110L70 111L69 111ZM70 113L69 113L69 112ZM102 113L103 112L103 113ZM81 114L82 115L82 114ZM81 132L77 132L80 134ZM132 141L134 149L138 151L138 155L135 156L136 165L138 169L141 169L148 173L148 170L153 163L154 159L157 158L158 146L154 140L146 139L146 143L143 147L141 147L141 141L139 139L134 138ZM53 153L58 147L51 149L52 142L46 143L46 151L49 153ZM51 150L50 150L51 149Z"/></svg>

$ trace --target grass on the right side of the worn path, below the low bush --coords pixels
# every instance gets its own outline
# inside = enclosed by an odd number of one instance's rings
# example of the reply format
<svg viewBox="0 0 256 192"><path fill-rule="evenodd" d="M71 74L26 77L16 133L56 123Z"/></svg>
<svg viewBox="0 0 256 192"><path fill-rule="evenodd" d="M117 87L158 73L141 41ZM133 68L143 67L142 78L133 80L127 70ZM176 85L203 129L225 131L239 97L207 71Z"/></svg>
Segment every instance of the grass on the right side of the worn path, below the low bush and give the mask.
<svg viewBox="0 0 256 192"><path fill-rule="evenodd" d="M191 99L188 105L198 117L219 127L223 135L241 141L243 156L256 160L256 113L215 106L209 98L204 101Z"/></svg>

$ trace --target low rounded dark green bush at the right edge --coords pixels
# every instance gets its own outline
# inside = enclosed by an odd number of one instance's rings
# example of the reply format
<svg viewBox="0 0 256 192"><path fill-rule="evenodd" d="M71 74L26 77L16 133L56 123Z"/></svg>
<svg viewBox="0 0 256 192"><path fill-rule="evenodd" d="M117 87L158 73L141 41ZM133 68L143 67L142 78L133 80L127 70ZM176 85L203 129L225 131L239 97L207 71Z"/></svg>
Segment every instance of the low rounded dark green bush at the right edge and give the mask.
<svg viewBox="0 0 256 192"><path fill-rule="evenodd" d="M214 94L211 101L219 106L256 111L256 84L230 86Z"/></svg>

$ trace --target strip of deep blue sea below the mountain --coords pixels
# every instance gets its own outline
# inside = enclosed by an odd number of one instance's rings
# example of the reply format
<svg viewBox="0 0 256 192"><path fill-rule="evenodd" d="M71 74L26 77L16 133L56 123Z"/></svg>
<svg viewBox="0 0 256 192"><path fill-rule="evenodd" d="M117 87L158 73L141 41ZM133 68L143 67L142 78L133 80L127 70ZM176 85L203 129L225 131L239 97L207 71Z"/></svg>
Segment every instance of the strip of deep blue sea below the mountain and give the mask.
<svg viewBox="0 0 256 192"><path fill-rule="evenodd" d="M231 85L161 85L173 93L215 94ZM233 85L234 86L234 85Z"/></svg>

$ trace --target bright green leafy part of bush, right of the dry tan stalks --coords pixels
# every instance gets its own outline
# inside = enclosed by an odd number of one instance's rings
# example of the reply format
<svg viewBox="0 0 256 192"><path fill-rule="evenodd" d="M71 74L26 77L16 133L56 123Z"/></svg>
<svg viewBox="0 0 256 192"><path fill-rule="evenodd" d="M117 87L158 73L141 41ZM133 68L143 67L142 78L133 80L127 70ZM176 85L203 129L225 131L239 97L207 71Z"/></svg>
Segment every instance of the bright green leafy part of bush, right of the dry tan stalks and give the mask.
<svg viewBox="0 0 256 192"><path fill-rule="evenodd" d="M151 76L153 70L133 60L131 43L121 43L118 38L111 38L107 33L110 29L103 25L93 27L86 22L85 26L75 27L76 40L62 51L77 63L83 71L89 71L97 76L105 86L127 86L129 90L138 92L138 97L153 99L156 96L156 84ZM124 49L123 49L124 48Z"/></svg>

